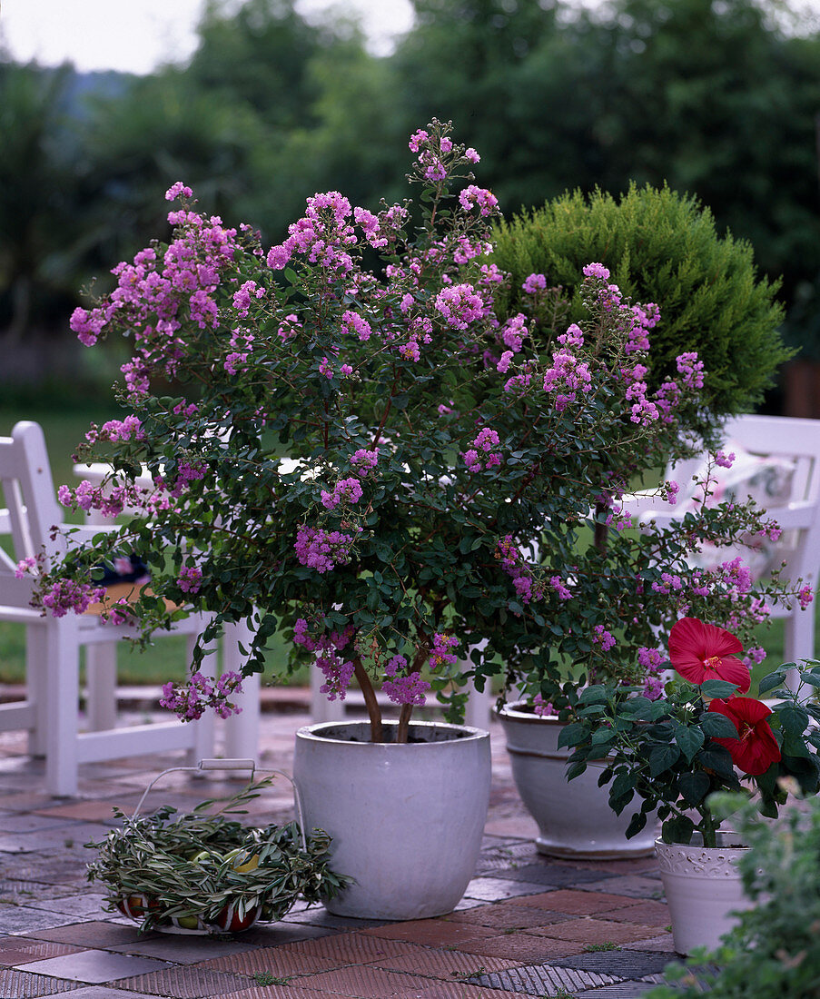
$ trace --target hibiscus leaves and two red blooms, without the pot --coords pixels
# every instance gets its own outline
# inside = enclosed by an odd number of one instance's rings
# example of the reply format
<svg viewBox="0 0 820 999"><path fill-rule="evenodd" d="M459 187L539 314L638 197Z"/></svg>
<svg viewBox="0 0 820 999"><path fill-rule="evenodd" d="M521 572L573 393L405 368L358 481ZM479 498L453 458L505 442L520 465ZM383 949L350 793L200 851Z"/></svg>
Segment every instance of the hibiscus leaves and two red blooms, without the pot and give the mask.
<svg viewBox="0 0 820 999"><path fill-rule="evenodd" d="M788 787L804 795L820 789L820 706L806 699L820 687L820 661L786 663L761 680L761 694L779 698L769 706L741 696L751 682L736 657L742 651L730 631L683 617L669 636L680 678L666 683L663 696L650 700L635 687L613 684L581 693L575 720L559 739L573 748L567 776L599 767L599 783L608 783L618 814L640 800L627 837L656 812L664 842L689 843L698 832L704 846L716 846L726 813L712 809L713 793L745 792L763 815L776 817Z"/></svg>

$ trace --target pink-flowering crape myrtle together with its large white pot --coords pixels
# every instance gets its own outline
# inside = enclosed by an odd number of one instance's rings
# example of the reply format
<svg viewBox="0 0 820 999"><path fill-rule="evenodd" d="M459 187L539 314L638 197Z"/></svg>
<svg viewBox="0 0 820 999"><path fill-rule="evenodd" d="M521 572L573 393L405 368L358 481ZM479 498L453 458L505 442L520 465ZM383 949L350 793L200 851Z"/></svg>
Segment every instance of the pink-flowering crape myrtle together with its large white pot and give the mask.
<svg viewBox="0 0 820 999"><path fill-rule="evenodd" d="M615 661L624 613L661 622L637 590L660 580L665 539L635 541L652 562L644 583L631 563L584 548L586 524L590 509L596 526L618 516L623 483L600 470L649 449L667 405L699 405L692 357L662 401L646 397L627 345L651 320L612 308L596 266L593 328L562 334L547 370L527 360L517 314L502 323L493 311L505 277L485 259L496 205L472 183L478 154L435 121L410 150L417 216L317 195L267 251L174 185L170 242L118 265L116 289L72 319L89 346L132 341L119 398L133 412L89 432L83 454L105 448L109 481L64 488L61 500L136 515L71 545L59 566L27 566L44 606L65 612L96 590L101 558L138 551L151 588L109 613L133 615L143 640L169 616L208 610L204 644L226 621L249 623L246 674L266 668L266 645L284 631L292 661L324 671L329 697L355 678L369 720L301 731L296 777L308 828L331 835L334 869L354 879L329 907L379 918L445 912L472 874L489 748L486 732L452 727L465 680L505 673L568 704L595 664ZM378 270L366 252L381 256ZM622 358L628 435L610 383L588 392L583 349ZM709 523L731 536L759 526L741 507ZM615 596L624 573L626 601ZM584 597L569 612L573 592ZM184 718L229 713L241 682L206 679L202 654L190 681L167 689ZM563 675L562 657L580 673ZM617 662L630 677L642 670ZM380 685L397 721L382 716ZM429 690L448 706L445 723L411 719ZM345 760L341 771L331 759Z"/></svg>

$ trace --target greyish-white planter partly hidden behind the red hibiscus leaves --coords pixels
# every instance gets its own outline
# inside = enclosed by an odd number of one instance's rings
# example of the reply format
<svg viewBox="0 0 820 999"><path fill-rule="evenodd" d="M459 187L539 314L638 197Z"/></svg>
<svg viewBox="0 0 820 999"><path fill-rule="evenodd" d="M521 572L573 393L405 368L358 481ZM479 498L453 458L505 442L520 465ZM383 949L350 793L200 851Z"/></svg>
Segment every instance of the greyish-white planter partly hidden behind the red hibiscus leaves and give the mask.
<svg viewBox="0 0 820 999"><path fill-rule="evenodd" d="M598 787L601 767L590 763L579 777L566 779L569 749L558 748L564 727L554 716L523 710L524 701L506 704L499 717L518 794L538 824L535 845L555 857L612 860L650 856L655 844L651 820L626 838L634 809L620 815L609 807L608 787ZM637 802L637 799L635 799Z"/></svg>

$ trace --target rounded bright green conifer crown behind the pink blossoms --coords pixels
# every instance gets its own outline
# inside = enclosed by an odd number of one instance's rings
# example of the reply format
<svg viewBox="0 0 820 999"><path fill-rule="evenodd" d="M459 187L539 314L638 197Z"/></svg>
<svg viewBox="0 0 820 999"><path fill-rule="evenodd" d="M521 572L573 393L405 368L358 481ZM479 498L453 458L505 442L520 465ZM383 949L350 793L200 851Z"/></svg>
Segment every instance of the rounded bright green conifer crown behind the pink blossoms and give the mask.
<svg viewBox="0 0 820 999"><path fill-rule="evenodd" d="M538 273L572 298L569 319L577 322L578 277L597 261L632 301L660 308L650 335L653 385L676 377L677 355L697 351L718 415L753 409L790 356L777 329L777 283L758 275L747 242L718 235L711 211L694 197L665 185L631 184L617 198L565 192L501 222L496 234L495 262L512 274L503 308L515 312L522 282Z"/></svg>

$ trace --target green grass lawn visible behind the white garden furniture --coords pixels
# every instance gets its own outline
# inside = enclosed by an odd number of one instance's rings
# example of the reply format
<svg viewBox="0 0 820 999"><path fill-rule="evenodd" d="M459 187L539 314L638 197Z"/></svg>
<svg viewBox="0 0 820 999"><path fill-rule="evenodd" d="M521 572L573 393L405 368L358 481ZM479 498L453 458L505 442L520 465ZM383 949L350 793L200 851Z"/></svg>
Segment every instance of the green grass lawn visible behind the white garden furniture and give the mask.
<svg viewBox="0 0 820 999"><path fill-rule="evenodd" d="M55 488L63 483L74 485L78 482L73 472L71 455L90 423L105 423L117 417L114 409L106 409L101 405L89 405L87 410L69 409L65 412L53 410L3 409L0 405L0 436L8 436L19 420L33 420L39 423L45 432L51 459L52 475ZM0 502L0 505L3 505ZM66 518L80 521L78 514L66 511ZM817 633L820 634L820 601L803 611L814 613L818 622ZM753 670L752 692L756 689L756 681L766 673L776 668L783 661L783 622L772 621L769 625L761 625L757 631L760 645L766 648L766 659ZM281 662L287 655L284 639L275 639L275 645L269 653L269 660ZM154 645L140 651L133 649L128 642L121 642L118 653L118 669L121 683L164 683L166 680L181 680L186 675L185 639L172 635L160 638ZM815 651L816 654L816 651ZM0 683L21 682L25 676L25 628L19 624L8 624L0 621ZM267 674L270 676L270 672ZM288 683L307 683L308 671L301 669L293 677L284 681Z"/></svg>

